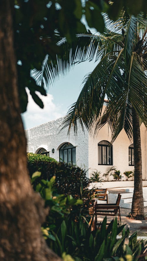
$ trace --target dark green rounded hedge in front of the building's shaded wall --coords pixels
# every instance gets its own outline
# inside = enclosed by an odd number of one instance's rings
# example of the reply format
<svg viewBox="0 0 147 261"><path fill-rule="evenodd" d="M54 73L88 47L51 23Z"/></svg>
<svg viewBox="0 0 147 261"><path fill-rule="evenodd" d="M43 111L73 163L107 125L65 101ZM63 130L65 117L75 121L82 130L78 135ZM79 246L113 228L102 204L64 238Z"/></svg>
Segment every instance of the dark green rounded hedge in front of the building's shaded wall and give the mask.
<svg viewBox="0 0 147 261"><path fill-rule="evenodd" d="M41 176L33 183L34 188L41 179L50 180L51 177L56 176L57 192L72 195L74 198L81 198L89 184L85 170L62 162L31 160L28 161L28 169L30 177L35 171L41 172Z"/></svg>

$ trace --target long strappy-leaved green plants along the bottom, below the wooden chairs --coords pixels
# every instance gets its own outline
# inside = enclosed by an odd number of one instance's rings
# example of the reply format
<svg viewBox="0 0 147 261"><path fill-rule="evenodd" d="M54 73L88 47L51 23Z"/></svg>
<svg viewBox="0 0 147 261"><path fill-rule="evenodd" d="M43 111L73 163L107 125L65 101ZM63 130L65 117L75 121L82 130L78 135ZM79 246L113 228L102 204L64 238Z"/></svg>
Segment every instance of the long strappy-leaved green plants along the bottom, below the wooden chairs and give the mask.
<svg viewBox="0 0 147 261"><path fill-rule="evenodd" d="M118 227L117 218L108 227L106 222L105 217L101 228L91 231L81 217L76 222L64 220L57 233L53 232L55 240L49 238L46 241L59 256L65 252L78 261L139 260L139 256L146 251L146 243L137 241L136 233L129 238L129 229L125 230L125 225ZM120 233L122 237L117 239Z"/></svg>

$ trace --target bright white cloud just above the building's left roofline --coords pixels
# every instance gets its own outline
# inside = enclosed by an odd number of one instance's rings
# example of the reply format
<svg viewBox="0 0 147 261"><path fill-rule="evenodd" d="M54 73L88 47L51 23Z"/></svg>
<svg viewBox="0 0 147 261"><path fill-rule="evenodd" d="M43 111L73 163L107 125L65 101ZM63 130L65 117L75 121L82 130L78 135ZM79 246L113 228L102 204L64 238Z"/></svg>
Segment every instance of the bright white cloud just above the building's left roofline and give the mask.
<svg viewBox="0 0 147 261"><path fill-rule="evenodd" d="M25 129L58 119L66 114L66 112L61 108L62 104L54 104L53 95L47 94L47 96L43 96L40 92L36 92L44 104L44 108L41 109L32 99L28 88L26 88L26 92L28 94L28 106L26 112L21 115Z"/></svg>

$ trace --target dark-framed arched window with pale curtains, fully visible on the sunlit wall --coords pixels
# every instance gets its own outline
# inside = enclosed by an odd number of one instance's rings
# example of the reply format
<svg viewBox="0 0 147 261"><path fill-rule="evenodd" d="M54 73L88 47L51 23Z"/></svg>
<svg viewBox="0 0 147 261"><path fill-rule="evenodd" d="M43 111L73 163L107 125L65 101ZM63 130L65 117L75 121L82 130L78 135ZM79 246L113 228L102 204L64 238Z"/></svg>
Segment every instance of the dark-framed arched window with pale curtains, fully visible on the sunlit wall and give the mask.
<svg viewBox="0 0 147 261"><path fill-rule="evenodd" d="M98 164L113 165L112 145L106 140L98 143Z"/></svg>

